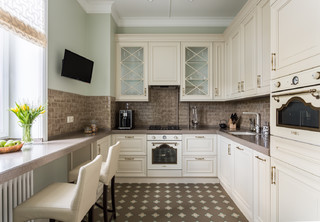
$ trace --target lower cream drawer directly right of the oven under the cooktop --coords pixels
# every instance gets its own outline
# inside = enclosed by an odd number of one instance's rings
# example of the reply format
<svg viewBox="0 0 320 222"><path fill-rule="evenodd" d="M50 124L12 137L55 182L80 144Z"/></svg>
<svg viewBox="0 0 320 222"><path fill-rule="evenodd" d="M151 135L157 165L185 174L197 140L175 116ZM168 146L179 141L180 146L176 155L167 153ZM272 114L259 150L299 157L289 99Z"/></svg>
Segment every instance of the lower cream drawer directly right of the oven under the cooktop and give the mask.
<svg viewBox="0 0 320 222"><path fill-rule="evenodd" d="M184 177L216 177L216 157L184 156L183 171Z"/></svg>

